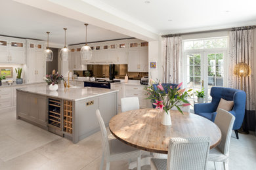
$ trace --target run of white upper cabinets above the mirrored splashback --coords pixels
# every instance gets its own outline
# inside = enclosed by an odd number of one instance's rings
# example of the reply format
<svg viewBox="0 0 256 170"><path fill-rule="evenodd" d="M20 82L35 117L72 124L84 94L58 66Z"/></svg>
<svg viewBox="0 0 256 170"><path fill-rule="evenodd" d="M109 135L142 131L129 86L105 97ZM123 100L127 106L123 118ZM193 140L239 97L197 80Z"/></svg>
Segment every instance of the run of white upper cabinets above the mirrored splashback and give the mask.
<svg viewBox="0 0 256 170"><path fill-rule="evenodd" d="M87 64L128 64L129 71L148 72L148 42L138 39L128 39L119 41L96 42L88 44L93 51L93 58L89 61L83 61ZM81 48L81 46L80 46ZM83 67L77 69L79 63L74 56L80 56L77 52L77 45L70 46L73 53L70 60L69 69L83 70ZM81 63L80 63L81 64Z"/></svg>

